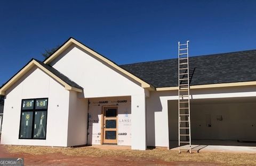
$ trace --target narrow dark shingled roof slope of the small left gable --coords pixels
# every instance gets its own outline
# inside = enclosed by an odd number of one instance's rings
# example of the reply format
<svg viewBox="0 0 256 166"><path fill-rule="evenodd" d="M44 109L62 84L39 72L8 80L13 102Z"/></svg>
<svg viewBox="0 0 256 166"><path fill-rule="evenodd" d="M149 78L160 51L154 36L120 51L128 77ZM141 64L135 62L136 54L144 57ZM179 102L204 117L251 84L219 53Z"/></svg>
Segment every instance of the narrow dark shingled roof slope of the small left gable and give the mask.
<svg viewBox="0 0 256 166"><path fill-rule="evenodd" d="M74 88L78 88L83 90L83 88L81 86L79 86L77 83L75 83L74 81L70 80L67 76L63 75L62 73L60 73L59 71L57 71L57 69L53 68L50 65L46 65L43 62L41 62L40 60L34 59L36 60L36 62L38 62L39 64L41 64L43 67L45 67L47 70L49 70L52 74L56 75L57 77L59 77L62 81L66 82L68 85L74 87Z"/></svg>

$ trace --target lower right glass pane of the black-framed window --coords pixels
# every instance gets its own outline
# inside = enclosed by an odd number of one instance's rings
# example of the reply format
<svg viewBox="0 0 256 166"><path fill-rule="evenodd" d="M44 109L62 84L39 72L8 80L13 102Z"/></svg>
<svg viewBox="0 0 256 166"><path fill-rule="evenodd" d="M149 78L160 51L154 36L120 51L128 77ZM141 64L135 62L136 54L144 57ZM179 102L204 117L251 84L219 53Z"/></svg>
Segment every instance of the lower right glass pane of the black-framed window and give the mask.
<svg viewBox="0 0 256 166"><path fill-rule="evenodd" d="M35 111L34 138L45 139L46 111Z"/></svg>

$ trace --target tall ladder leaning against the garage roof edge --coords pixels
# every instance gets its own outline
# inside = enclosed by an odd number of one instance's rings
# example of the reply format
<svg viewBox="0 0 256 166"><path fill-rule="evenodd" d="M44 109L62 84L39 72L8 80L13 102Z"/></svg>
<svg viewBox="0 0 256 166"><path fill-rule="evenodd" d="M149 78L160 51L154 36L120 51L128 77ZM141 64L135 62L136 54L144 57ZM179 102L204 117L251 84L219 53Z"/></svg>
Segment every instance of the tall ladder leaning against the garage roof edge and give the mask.
<svg viewBox="0 0 256 166"><path fill-rule="evenodd" d="M189 144L191 153L190 129L190 102L189 102L189 67L188 67L188 42L179 45L178 58L178 85L179 85L179 153L180 146Z"/></svg>

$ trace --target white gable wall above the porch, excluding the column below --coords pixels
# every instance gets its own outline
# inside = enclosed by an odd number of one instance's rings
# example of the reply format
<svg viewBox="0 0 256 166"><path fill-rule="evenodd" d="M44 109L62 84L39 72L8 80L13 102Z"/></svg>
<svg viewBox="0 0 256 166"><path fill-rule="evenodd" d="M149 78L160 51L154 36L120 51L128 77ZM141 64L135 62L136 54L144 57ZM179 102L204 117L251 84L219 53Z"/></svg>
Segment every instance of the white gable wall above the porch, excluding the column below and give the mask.
<svg viewBox="0 0 256 166"><path fill-rule="evenodd" d="M82 86L84 98L144 94L140 85L75 45L70 46L50 65Z"/></svg>

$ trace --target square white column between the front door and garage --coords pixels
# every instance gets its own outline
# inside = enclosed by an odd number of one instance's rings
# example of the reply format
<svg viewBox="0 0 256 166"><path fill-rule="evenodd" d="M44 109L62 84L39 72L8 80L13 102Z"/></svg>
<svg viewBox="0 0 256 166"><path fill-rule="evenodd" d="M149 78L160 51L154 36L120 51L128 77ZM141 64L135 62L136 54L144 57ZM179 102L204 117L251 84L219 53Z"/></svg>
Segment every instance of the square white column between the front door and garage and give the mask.
<svg viewBox="0 0 256 166"><path fill-rule="evenodd" d="M145 94L132 95L132 150L146 150Z"/></svg>

